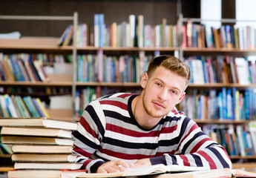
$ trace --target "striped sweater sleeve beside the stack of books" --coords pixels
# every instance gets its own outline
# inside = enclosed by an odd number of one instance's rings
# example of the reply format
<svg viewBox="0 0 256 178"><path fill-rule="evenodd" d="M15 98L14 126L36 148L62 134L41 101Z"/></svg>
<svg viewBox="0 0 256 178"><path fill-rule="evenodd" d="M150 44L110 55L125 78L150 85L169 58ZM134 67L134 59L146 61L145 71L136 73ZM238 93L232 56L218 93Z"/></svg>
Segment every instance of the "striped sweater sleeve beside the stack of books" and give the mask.
<svg viewBox="0 0 256 178"><path fill-rule="evenodd" d="M100 108L98 101L91 102L82 113L77 131L73 131L73 154L77 156L76 162L82 162L83 168L90 173L95 173L104 163L102 159L92 158L105 132L105 116Z"/></svg>

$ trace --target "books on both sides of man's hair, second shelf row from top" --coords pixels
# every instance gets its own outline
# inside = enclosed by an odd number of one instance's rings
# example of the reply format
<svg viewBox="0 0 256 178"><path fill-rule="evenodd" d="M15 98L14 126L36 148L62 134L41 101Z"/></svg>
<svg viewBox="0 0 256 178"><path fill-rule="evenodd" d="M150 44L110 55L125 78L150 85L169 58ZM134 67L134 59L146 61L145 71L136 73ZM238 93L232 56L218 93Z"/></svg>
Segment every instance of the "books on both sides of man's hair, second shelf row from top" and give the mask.
<svg viewBox="0 0 256 178"><path fill-rule="evenodd" d="M78 82L140 82L153 56L79 55ZM256 83L255 56L190 56L191 83ZM102 71L102 72L99 72Z"/></svg>

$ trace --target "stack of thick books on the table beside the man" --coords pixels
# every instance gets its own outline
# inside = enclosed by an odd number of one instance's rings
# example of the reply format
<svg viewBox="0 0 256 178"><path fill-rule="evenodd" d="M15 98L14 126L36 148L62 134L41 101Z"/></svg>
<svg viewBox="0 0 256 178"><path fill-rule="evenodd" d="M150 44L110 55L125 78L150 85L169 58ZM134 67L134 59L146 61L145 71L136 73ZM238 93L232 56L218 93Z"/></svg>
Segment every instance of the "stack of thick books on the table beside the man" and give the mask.
<svg viewBox="0 0 256 178"><path fill-rule="evenodd" d="M0 118L1 143L12 145L14 171L8 177L60 177L78 170L72 154L76 122L39 118Z"/></svg>

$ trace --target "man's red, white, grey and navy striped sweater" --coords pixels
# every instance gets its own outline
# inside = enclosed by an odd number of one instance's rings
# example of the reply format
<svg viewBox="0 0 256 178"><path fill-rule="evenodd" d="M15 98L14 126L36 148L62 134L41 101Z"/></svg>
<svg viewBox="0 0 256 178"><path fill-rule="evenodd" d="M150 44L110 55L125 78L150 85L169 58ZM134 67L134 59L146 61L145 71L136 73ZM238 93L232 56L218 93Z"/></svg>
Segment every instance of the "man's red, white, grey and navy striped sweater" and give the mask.
<svg viewBox="0 0 256 178"><path fill-rule="evenodd" d="M226 150L197 124L176 110L151 129L142 128L131 111L136 94L103 96L85 108L79 121L73 153L89 172L104 162L123 159L135 162L150 158L151 164L231 168Z"/></svg>

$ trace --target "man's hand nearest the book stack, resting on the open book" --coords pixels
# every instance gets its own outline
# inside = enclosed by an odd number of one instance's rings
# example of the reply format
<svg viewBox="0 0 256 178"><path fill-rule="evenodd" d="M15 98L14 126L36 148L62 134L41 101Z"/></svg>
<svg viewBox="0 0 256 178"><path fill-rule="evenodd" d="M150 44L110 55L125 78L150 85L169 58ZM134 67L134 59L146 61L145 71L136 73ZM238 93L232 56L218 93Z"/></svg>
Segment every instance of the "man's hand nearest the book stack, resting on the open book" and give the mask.
<svg viewBox="0 0 256 178"><path fill-rule="evenodd" d="M123 160L114 160L106 162L99 166L96 173L114 173L125 171L125 168L133 168L133 163L128 163Z"/></svg>

